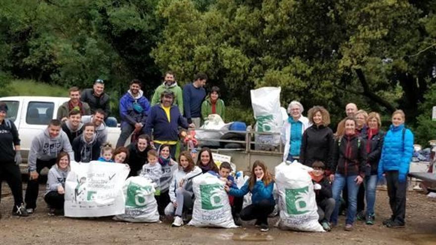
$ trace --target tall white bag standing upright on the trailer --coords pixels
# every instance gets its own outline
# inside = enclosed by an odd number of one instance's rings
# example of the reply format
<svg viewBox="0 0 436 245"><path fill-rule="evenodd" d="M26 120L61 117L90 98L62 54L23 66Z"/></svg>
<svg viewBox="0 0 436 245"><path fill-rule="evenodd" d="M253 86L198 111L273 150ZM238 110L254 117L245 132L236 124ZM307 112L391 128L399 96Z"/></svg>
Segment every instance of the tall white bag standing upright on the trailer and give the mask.
<svg viewBox="0 0 436 245"><path fill-rule="evenodd" d="M251 90L251 105L256 119L256 132L280 133L283 125L278 87L264 87ZM256 134L255 148L272 150L280 144L280 135Z"/></svg>

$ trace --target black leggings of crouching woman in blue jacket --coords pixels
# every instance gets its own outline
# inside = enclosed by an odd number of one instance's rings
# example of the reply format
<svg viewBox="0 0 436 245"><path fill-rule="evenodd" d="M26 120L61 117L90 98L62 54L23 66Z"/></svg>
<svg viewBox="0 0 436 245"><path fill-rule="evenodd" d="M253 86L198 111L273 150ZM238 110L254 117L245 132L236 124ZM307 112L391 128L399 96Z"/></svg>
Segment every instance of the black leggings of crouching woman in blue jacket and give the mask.
<svg viewBox="0 0 436 245"><path fill-rule="evenodd" d="M250 204L241 211L242 220L257 219L256 224L268 225L268 215L274 211L274 204L268 199L262 199L256 204Z"/></svg>

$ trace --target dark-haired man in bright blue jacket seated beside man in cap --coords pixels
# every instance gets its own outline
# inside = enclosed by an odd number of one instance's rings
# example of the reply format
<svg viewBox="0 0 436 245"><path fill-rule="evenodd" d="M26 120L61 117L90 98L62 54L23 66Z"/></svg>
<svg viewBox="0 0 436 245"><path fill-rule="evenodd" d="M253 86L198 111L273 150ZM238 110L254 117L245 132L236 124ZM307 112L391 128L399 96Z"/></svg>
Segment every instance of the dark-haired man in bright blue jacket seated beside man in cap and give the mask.
<svg viewBox="0 0 436 245"><path fill-rule="evenodd" d="M133 79L130 82L130 89L119 100L119 114L121 116L121 134L119 135L116 147L122 147L130 134L142 131L150 112L150 102L144 97L141 90L141 81Z"/></svg>

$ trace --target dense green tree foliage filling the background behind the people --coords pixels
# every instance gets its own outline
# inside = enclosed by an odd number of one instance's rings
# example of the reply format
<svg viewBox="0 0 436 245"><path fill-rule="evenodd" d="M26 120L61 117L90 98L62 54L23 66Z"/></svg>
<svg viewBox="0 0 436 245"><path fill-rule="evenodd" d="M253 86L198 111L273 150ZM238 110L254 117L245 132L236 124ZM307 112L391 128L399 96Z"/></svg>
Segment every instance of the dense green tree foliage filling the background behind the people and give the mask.
<svg viewBox="0 0 436 245"><path fill-rule="evenodd" d="M281 86L283 104L322 104L333 122L350 101L387 120L401 108L425 143L436 138L435 10L435 0L2 1L0 83L100 77L116 104L132 78L151 96L167 69L182 85L202 71L230 119L250 120L250 89Z"/></svg>

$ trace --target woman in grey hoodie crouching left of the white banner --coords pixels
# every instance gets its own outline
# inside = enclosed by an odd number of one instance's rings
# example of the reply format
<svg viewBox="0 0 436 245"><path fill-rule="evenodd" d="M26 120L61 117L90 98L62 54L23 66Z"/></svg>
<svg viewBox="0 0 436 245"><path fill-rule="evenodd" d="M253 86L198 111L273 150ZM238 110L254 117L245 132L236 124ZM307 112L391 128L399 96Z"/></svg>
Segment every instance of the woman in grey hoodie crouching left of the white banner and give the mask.
<svg viewBox="0 0 436 245"><path fill-rule="evenodd" d="M47 176L47 188L46 194L44 194L44 200L50 208L50 216L55 215L56 210L63 209L65 180L69 171L70 156L68 153L62 151L57 155L56 164L53 165Z"/></svg>

